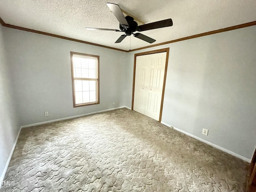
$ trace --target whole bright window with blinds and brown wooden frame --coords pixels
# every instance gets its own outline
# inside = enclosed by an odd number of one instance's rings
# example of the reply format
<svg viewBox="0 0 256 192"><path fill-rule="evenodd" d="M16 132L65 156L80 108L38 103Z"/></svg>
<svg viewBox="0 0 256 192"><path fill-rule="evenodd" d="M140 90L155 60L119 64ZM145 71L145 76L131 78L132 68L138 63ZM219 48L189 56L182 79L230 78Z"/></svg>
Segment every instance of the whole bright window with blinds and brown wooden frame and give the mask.
<svg viewBox="0 0 256 192"><path fill-rule="evenodd" d="M99 104L100 56L70 52L73 106Z"/></svg>

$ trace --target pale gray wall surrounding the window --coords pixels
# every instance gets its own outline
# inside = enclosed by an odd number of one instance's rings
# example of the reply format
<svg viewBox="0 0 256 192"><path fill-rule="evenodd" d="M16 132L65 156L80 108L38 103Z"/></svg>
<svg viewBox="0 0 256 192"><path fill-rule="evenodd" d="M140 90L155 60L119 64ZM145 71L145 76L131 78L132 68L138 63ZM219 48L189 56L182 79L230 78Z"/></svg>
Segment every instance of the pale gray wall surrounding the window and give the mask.
<svg viewBox="0 0 256 192"><path fill-rule="evenodd" d="M22 125L125 105L125 52L11 28L4 30ZM70 51L100 56L100 104L73 108ZM44 111L49 111L50 116L45 117Z"/></svg>

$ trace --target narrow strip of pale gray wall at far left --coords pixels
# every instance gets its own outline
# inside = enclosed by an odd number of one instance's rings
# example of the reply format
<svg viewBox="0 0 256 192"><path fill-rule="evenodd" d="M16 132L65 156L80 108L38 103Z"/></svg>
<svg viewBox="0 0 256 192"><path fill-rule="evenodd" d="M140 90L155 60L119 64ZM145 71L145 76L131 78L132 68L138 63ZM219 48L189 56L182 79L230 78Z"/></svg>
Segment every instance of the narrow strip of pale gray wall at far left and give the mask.
<svg viewBox="0 0 256 192"><path fill-rule="evenodd" d="M0 181L20 128L4 45L4 32L0 25Z"/></svg>

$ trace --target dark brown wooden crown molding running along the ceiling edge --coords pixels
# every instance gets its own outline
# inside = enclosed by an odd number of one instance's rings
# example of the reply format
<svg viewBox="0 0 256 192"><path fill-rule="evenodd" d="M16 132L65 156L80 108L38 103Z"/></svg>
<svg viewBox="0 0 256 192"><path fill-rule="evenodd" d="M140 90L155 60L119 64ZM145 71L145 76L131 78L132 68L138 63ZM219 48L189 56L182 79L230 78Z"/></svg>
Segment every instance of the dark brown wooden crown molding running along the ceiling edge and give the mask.
<svg viewBox="0 0 256 192"><path fill-rule="evenodd" d="M162 42L162 43L158 43L158 44L154 44L154 45L150 45L150 46L146 46L146 47L136 48L136 49L132 49L132 50L118 49L118 48L114 48L114 47L104 46L104 45L100 45L100 44L96 44L96 43L91 43L91 42L87 42L87 41L82 41L82 40L78 40L78 39L73 39L73 38L69 38L69 37L64 37L64 36L60 36L60 35L55 35L55 34L51 34L51 33L46 33L46 32L42 32L42 31L37 31L37 30L33 30L33 29L28 29L28 28L24 28L24 27L6 24L2 20L1 17L0 17L0 24L2 24L2 26L4 26L4 27L8 27L8 28L28 31L28 32L32 32L32 33L47 35L47 36L52 36L52 37L61 38L61 39L65 39L65 40L70 40L70 41L80 42L80 43L84 43L84 44L104 47L104 48L118 50L118 51L122 51L122 52L133 52L133 51L142 50L142 49L146 49L146 48L150 48L150 47L170 44L170 43L174 43L174 42L179 42L179 41L198 38L198 37L202 37L202 36L212 35L212 34L216 34L216 33L222 33L222 32L226 32L226 31L231 31L231 30L236 30L236 29L240 29L240 28L254 26L254 25L256 25L256 21L248 22L248 23L244 23L244 24L240 24L240 25L236 25L236 26L226 27L226 28L222 28L222 29L218 29L218 30L213 30L213 31L205 32L205 33L200 33L200 34L179 38L176 40L166 41L166 42Z"/></svg>

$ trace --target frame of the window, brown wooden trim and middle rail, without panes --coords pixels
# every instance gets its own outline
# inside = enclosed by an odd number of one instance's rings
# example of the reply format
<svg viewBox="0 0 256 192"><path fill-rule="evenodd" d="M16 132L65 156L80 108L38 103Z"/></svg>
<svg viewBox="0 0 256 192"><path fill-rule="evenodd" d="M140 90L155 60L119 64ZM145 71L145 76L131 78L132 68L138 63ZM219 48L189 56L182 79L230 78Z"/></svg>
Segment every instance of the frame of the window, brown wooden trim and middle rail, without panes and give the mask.
<svg viewBox="0 0 256 192"><path fill-rule="evenodd" d="M82 55L82 56L88 56L88 57L98 58L98 78L97 78L97 80L96 80L96 102L76 104L76 95L75 95L75 84L74 84L74 80L75 80L75 79L76 79L76 80L95 80L95 79L90 79L90 78L74 78L73 55ZM70 59L71 59L71 77L72 77L73 107L75 108L75 107L82 107L82 106L100 104L100 56L70 51Z"/></svg>

